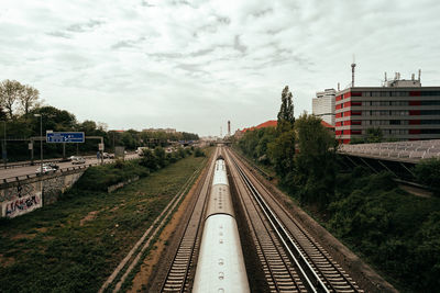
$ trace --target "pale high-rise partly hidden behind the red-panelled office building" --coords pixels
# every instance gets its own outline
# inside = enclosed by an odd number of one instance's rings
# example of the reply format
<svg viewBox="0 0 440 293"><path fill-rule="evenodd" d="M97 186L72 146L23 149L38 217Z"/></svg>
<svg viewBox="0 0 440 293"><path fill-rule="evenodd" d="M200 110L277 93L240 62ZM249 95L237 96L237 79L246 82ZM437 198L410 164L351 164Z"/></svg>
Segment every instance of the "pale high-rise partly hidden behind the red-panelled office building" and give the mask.
<svg viewBox="0 0 440 293"><path fill-rule="evenodd" d="M334 125L334 100L337 91L334 89L326 89L316 93L312 99L311 113L322 119L330 125Z"/></svg>

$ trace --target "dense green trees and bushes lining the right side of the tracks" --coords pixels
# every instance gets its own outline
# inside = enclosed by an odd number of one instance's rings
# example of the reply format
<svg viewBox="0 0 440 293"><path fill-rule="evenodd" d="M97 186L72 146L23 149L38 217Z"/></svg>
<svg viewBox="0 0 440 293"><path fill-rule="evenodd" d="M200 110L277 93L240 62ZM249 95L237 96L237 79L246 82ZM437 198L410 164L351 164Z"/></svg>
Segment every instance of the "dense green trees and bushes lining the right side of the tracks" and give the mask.
<svg viewBox="0 0 440 293"><path fill-rule="evenodd" d="M289 99L286 87L276 128L248 131L234 146L273 168L284 190L403 289L437 291L440 200L406 193L389 173L343 169L338 164L334 135L319 117L302 114L296 121L292 119L293 105L286 106ZM381 135L372 128L365 142L380 142ZM437 193L439 172L440 160L422 162L415 169L419 181Z"/></svg>

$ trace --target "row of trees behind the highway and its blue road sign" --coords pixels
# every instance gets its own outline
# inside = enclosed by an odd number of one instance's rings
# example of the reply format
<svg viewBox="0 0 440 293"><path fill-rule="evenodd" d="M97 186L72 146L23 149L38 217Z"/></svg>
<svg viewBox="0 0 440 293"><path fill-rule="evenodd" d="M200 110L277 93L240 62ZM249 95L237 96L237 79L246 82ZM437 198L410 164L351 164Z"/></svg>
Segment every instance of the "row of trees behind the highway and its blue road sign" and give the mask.
<svg viewBox="0 0 440 293"><path fill-rule="evenodd" d="M86 136L102 136L107 151L113 151L114 146L124 146L127 149L135 149L140 146L165 147L169 140L197 140L197 134L193 133L165 133L165 132L138 132L129 129L124 132L108 131L105 123L86 120L78 122L76 116L66 111L51 105L43 105L37 89L22 84L16 80L3 80L0 82L0 139L4 139L3 126L7 128L8 161L30 158L28 143L31 137L40 136L41 114L43 134L51 129L54 132L84 132ZM66 153L94 154L97 151L98 142L87 140L84 144L66 144ZM4 147L4 146L2 146ZM40 144L34 145L34 153L40 153ZM44 156L57 157L63 153L59 144L45 144Z"/></svg>

